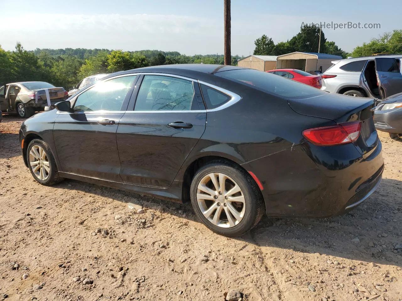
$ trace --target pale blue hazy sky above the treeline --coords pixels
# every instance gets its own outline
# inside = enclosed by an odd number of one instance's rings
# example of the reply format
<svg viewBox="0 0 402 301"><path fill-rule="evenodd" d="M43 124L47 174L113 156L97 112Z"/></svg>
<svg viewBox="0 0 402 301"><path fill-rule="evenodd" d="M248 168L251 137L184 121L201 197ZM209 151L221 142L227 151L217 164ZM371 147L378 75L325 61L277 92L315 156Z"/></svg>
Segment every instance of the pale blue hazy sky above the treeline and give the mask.
<svg viewBox="0 0 402 301"><path fill-rule="evenodd" d="M0 45L16 41L36 48L158 49L186 55L222 54L223 0L0 0ZM393 29L399 15L377 13L399 8L400 0L274 1L232 0L232 55L252 54L265 34L275 43L291 39L302 23L379 23L377 29L323 29L328 41L345 51Z"/></svg>

